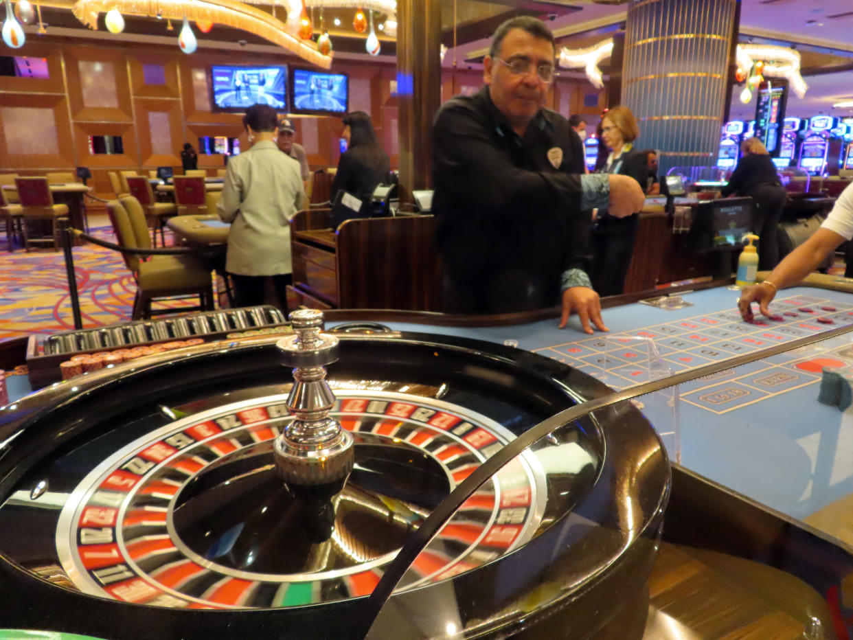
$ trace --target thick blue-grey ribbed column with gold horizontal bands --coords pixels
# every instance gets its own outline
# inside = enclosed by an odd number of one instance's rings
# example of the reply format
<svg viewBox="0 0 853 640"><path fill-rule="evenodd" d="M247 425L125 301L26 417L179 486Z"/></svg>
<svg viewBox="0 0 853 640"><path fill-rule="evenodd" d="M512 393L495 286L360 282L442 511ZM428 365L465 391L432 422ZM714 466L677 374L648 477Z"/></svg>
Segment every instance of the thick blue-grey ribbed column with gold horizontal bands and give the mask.
<svg viewBox="0 0 853 640"><path fill-rule="evenodd" d="M622 103L660 170L712 166L726 112L740 0L630 0Z"/></svg>

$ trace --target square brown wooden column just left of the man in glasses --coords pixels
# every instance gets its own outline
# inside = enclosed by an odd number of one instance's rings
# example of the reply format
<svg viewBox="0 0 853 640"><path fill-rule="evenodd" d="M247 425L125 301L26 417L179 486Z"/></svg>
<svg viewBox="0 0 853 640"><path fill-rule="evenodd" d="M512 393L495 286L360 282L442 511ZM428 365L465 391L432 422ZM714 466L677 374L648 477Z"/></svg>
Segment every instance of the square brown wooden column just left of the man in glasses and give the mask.
<svg viewBox="0 0 853 640"><path fill-rule="evenodd" d="M441 3L397 1L400 201L432 184L432 120L441 103Z"/></svg>

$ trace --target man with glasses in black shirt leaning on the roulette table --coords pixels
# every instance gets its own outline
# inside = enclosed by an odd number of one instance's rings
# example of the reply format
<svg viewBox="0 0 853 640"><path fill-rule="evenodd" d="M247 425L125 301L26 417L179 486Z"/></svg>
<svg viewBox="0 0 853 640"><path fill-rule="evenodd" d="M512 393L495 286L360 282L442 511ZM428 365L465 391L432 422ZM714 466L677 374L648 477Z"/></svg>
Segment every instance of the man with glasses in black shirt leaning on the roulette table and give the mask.
<svg viewBox="0 0 853 640"><path fill-rule="evenodd" d="M541 20L499 26L484 60L486 86L445 102L433 127L436 241L443 305L502 313L560 304L565 327L606 331L589 287L589 216L629 215L643 196L630 178L583 175L579 138L543 108L554 77L554 36Z"/></svg>

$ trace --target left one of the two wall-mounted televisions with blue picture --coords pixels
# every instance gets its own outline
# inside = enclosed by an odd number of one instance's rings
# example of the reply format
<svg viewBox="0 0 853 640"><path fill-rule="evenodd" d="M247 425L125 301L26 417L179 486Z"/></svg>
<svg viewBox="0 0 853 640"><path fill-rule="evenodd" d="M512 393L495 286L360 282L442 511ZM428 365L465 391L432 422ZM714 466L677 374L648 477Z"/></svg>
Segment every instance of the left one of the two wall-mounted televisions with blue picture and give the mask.
<svg viewBox="0 0 853 640"><path fill-rule="evenodd" d="M211 90L216 111L243 112L253 104L268 104L287 112L287 67L213 65Z"/></svg>

